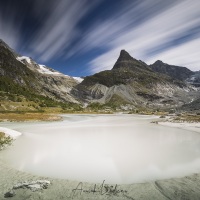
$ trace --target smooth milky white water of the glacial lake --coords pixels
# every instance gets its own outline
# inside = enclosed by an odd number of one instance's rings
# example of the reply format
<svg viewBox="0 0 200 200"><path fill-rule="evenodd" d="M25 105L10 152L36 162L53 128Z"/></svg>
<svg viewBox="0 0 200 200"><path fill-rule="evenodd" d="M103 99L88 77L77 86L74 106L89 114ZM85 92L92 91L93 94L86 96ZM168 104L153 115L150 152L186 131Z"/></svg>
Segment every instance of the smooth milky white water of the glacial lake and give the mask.
<svg viewBox="0 0 200 200"><path fill-rule="evenodd" d="M23 136L1 152L9 165L38 175L133 183L200 172L198 133L132 115L65 115L62 122L1 123Z"/></svg>

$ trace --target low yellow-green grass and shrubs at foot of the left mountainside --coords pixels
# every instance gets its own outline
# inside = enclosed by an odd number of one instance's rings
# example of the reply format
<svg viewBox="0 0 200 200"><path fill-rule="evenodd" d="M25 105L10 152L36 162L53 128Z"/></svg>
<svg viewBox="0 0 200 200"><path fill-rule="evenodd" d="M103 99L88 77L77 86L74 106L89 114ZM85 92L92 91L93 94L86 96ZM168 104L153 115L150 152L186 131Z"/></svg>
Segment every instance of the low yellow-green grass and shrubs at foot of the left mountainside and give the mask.
<svg viewBox="0 0 200 200"><path fill-rule="evenodd" d="M82 107L76 103L56 101L32 93L26 88L24 91L19 92L19 90L0 91L1 112L45 112L48 108L59 108L61 112L82 110Z"/></svg>

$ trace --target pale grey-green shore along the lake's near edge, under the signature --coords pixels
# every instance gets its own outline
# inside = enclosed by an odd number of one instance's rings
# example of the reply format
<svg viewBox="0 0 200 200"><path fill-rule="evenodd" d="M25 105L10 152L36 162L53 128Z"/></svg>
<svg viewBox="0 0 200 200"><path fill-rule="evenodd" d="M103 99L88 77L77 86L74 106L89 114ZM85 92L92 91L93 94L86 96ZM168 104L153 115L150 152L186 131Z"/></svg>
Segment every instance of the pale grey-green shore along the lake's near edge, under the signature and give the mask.
<svg viewBox="0 0 200 200"><path fill-rule="evenodd" d="M158 125L176 127L200 133L200 123L158 121ZM11 129L7 130L7 134L12 134L12 132L9 132L10 130ZM192 174L182 178L171 178L158 181L149 181L145 183L112 185L102 182L102 185L35 176L13 169L2 163L1 159L0 172L0 200L5 199L4 194L12 189L15 184L33 180L48 180L51 182L51 184L47 189L42 189L35 192L31 191L30 189L17 189L15 191L16 195L11 199L194 200L200 198L200 173Z"/></svg>

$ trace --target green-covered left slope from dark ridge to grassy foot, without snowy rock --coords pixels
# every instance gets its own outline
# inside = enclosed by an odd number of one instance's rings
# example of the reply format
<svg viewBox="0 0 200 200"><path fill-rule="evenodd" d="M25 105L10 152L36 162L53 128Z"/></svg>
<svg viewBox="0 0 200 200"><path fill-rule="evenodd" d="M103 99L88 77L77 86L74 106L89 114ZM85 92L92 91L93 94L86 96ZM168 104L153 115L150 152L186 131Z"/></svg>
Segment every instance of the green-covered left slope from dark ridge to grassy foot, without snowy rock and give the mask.
<svg viewBox="0 0 200 200"><path fill-rule="evenodd" d="M48 81L40 81L41 77L17 61L9 49L1 47L0 51L0 112L45 112L47 108L81 110L80 105L62 101L60 96L46 89L43 83L48 84Z"/></svg>

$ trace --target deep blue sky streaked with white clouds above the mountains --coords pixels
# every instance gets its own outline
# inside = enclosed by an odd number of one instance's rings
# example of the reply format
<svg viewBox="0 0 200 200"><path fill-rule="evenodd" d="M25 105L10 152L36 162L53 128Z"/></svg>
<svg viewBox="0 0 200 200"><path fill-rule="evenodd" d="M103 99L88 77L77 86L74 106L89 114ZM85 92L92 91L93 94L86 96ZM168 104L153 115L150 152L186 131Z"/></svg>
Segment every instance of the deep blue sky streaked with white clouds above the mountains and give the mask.
<svg viewBox="0 0 200 200"><path fill-rule="evenodd" d="M71 76L112 69L120 50L200 70L199 0L0 0L0 39Z"/></svg>

